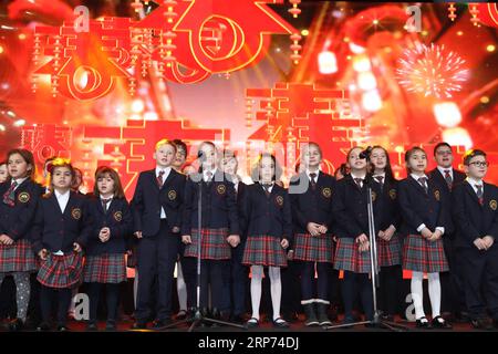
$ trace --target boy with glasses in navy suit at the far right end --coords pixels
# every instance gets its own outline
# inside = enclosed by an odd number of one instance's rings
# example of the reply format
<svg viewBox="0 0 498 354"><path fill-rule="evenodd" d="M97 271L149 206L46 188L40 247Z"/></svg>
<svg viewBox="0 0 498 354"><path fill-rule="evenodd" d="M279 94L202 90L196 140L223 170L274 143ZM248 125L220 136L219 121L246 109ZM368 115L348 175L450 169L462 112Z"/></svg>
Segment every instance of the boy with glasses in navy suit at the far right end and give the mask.
<svg viewBox="0 0 498 354"><path fill-rule="evenodd" d="M488 170L486 153L470 150L464 157L466 180L452 194L456 247L461 259L467 309L475 329L491 330L489 310L498 324L498 188L483 179Z"/></svg>

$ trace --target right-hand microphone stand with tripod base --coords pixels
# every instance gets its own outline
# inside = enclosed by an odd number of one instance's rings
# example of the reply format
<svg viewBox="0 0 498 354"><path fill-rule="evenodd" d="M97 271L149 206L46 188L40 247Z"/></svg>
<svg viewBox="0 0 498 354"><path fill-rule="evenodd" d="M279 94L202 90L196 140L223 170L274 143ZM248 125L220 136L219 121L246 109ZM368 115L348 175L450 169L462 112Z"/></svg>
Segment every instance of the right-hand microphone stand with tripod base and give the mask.
<svg viewBox="0 0 498 354"><path fill-rule="evenodd" d="M369 162L369 157L366 158ZM362 322L353 322L347 324L338 324L338 325L329 325L324 326L324 330L333 330L333 329L341 329L341 327L351 327L359 324L370 324L374 327L380 329L387 329L394 332L404 332L408 331L408 327L405 325L402 325L400 323L391 322L391 321L384 321L381 319L381 314L378 312L377 308L377 288L380 287L378 283L378 273L380 273L380 267L378 267L378 259L377 259L377 241L376 241L376 233L375 233L375 220L374 220L374 212L373 212L373 200L372 200L372 186L370 183L367 183L366 178L364 180L366 183L366 210L369 215L369 241L370 241L370 267L371 267L371 278L372 278L372 296L373 296L373 306L374 306L374 315L373 320L369 321L362 321Z"/></svg>

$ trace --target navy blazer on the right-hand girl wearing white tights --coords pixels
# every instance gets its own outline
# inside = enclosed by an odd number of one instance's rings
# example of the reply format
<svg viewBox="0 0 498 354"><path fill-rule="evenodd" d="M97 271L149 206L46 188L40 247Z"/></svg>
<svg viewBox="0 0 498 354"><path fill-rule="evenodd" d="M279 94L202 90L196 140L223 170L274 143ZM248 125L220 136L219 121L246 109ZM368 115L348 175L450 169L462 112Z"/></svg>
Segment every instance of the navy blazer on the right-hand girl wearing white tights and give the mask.
<svg viewBox="0 0 498 354"><path fill-rule="evenodd" d="M427 180L428 192L412 176L400 181L398 202L403 217L402 233L419 235L417 228L425 223L430 230L444 227L446 232L446 216L443 210L442 187L432 178Z"/></svg>

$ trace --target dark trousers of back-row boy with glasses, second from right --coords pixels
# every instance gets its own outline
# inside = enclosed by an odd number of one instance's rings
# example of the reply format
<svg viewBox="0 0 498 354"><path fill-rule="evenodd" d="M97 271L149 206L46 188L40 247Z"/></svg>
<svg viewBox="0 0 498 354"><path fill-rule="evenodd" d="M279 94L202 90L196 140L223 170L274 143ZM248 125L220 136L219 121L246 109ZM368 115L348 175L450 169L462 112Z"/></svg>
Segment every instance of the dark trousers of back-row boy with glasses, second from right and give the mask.
<svg viewBox="0 0 498 354"><path fill-rule="evenodd" d="M463 280L461 258L457 253L452 237L443 237L443 246L449 271L440 273L442 311L460 313L466 311L465 290Z"/></svg>

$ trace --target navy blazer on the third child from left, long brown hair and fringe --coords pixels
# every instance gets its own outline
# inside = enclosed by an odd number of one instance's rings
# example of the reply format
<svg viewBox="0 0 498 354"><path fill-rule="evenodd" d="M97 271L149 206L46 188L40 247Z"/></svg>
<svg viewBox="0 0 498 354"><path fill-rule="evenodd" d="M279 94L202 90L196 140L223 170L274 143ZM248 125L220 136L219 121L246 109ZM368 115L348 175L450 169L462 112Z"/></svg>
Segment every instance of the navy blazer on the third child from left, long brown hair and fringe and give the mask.
<svg viewBox="0 0 498 354"><path fill-rule="evenodd" d="M100 197L89 200L89 212L92 218L92 233L86 244L87 256L103 253L124 253L127 240L133 233L133 216L125 198L113 198L104 211ZM101 229L111 229L111 238L102 242L98 238Z"/></svg>

